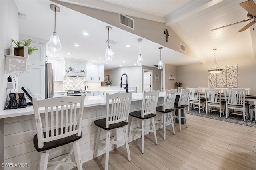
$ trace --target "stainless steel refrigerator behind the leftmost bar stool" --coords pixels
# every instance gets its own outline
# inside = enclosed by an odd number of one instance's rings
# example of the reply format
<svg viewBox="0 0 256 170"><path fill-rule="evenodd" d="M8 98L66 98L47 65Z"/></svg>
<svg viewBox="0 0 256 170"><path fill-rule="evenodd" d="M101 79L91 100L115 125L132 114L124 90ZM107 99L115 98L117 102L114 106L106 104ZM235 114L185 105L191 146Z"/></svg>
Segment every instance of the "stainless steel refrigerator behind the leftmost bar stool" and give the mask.
<svg viewBox="0 0 256 170"><path fill-rule="evenodd" d="M53 97L52 63L45 63L45 98Z"/></svg>

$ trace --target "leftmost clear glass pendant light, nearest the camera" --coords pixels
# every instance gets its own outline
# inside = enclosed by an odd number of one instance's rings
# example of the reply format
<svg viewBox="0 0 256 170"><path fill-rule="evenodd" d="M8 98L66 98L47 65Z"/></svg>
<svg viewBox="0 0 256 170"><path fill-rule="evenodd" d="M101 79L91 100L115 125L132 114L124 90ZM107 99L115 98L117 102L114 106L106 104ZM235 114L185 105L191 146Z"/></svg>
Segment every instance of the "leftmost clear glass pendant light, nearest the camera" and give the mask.
<svg viewBox="0 0 256 170"><path fill-rule="evenodd" d="M60 44L60 38L58 34L55 31L56 28L56 12L60 12L60 7L51 4L50 5L51 10L54 11L54 32L52 33L52 36L48 42L48 47L50 51L54 53L58 53L61 49L61 44Z"/></svg>

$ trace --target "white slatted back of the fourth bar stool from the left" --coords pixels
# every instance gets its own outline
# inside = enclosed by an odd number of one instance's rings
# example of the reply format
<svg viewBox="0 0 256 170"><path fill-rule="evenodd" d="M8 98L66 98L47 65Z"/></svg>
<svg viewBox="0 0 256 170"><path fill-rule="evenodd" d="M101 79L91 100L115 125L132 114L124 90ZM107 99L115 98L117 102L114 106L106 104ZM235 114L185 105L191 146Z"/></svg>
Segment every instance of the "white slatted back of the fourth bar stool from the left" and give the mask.
<svg viewBox="0 0 256 170"><path fill-rule="evenodd" d="M173 109L174 102L176 99L177 89L165 90L164 103L163 103L163 111L166 109Z"/></svg>

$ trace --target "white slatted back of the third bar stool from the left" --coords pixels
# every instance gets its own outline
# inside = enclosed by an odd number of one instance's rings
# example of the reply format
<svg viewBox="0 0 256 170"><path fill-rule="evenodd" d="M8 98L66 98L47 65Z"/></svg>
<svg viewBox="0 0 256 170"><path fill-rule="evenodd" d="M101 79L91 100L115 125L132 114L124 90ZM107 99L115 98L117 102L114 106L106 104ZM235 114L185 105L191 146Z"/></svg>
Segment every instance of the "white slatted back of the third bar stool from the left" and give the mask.
<svg viewBox="0 0 256 170"><path fill-rule="evenodd" d="M156 105L158 102L159 90L144 91L142 100L141 117L149 114L156 114Z"/></svg>

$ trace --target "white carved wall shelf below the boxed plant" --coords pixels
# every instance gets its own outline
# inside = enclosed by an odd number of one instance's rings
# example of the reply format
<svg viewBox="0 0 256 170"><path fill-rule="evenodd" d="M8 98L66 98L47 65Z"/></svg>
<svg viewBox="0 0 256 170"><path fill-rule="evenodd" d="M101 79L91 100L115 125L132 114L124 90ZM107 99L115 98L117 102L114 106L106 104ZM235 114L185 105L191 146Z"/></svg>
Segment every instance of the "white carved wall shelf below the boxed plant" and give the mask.
<svg viewBox="0 0 256 170"><path fill-rule="evenodd" d="M15 71L26 71L27 69L26 57L20 57L15 55L5 55L5 70L6 73Z"/></svg>

